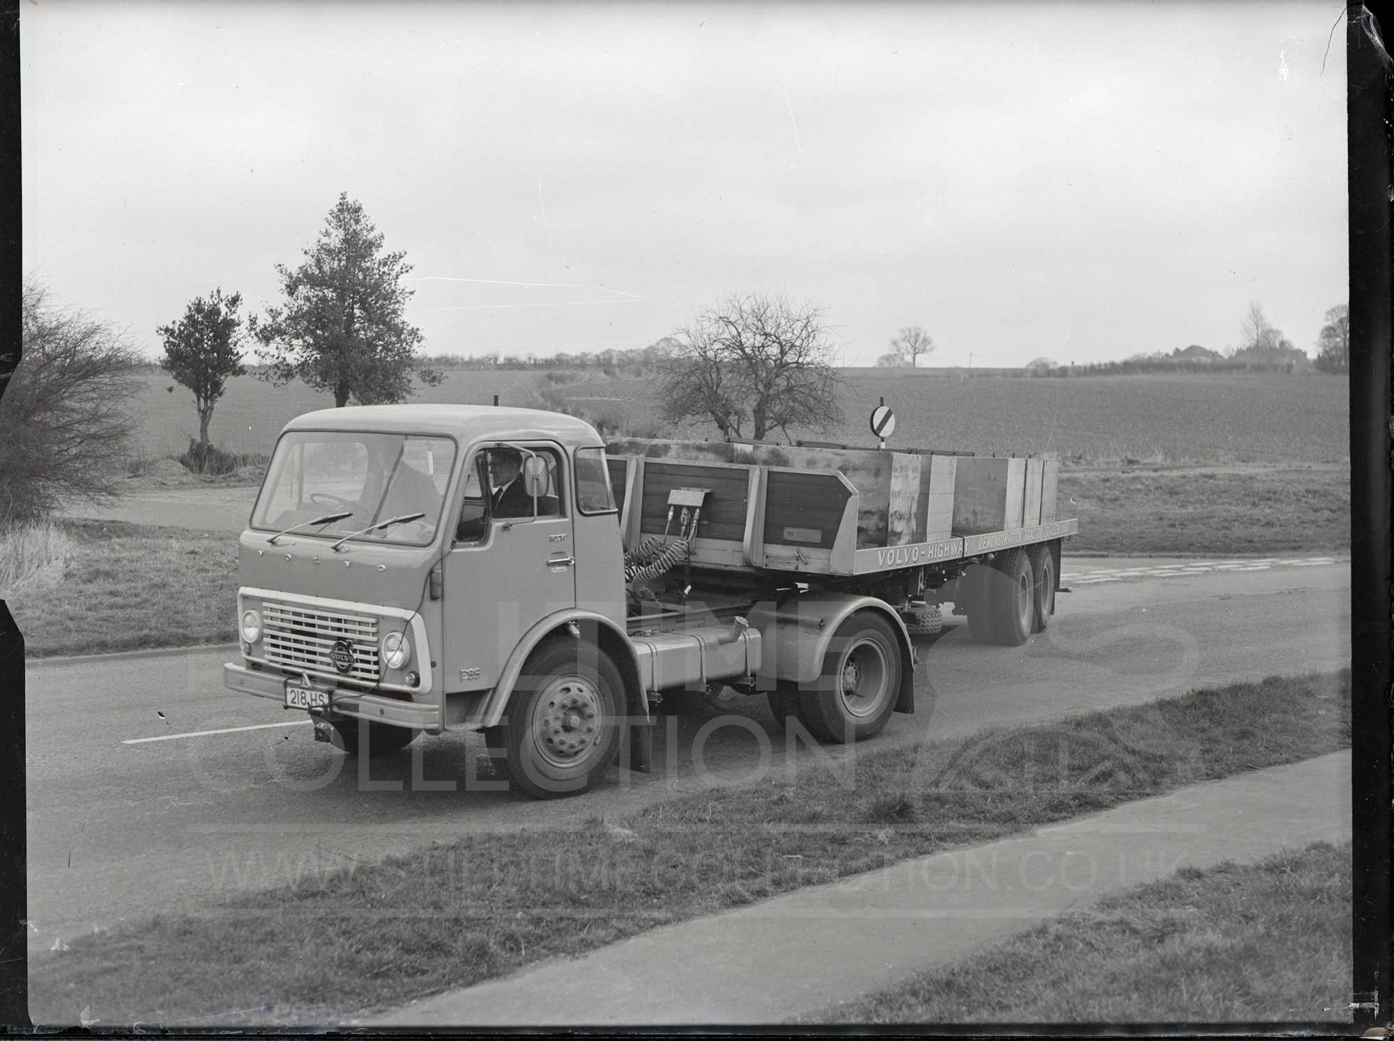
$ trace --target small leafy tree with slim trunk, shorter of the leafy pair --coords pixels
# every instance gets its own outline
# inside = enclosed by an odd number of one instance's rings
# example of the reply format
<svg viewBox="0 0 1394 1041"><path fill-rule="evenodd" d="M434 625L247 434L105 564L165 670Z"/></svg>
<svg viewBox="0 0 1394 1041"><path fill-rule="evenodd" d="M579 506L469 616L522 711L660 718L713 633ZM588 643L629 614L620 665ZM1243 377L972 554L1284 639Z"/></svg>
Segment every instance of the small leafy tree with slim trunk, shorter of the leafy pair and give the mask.
<svg viewBox="0 0 1394 1041"><path fill-rule="evenodd" d="M222 289L215 289L208 300L194 297L177 322L155 331L164 339L160 368L194 392L199 459L208 458L213 406L223 396L227 381L247 371L243 367L243 320L237 315L241 304L240 293L224 297Z"/></svg>

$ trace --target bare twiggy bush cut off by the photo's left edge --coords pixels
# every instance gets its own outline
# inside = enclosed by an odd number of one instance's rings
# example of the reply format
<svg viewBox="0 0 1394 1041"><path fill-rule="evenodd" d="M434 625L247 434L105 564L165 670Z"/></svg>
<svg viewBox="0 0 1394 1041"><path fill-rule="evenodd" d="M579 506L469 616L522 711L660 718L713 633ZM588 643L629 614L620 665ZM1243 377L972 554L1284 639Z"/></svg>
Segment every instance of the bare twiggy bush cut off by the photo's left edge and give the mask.
<svg viewBox="0 0 1394 1041"><path fill-rule="evenodd" d="M114 494L139 421L139 359L117 329L52 303L32 278L20 327L22 356L0 402L0 523Z"/></svg>

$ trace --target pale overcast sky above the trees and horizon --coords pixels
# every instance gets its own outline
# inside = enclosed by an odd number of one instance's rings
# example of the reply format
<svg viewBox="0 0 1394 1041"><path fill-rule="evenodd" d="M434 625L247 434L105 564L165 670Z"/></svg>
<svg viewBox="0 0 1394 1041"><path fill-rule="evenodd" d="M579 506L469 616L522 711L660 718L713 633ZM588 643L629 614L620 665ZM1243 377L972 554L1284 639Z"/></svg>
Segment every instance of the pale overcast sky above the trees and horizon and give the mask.
<svg viewBox="0 0 1394 1041"><path fill-rule="evenodd" d="M215 285L276 303L347 191L429 353L644 346L732 290L848 364L909 324L933 364L1223 349L1250 300L1313 350L1340 13L28 0L24 262L153 356Z"/></svg>

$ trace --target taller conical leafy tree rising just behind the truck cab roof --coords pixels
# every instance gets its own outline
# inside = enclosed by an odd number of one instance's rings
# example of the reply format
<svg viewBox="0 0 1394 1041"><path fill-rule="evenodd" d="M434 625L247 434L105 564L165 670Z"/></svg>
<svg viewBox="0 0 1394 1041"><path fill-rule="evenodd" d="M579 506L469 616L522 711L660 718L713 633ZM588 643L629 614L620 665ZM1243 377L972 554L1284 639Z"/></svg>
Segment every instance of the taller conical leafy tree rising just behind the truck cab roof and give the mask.
<svg viewBox="0 0 1394 1041"><path fill-rule="evenodd" d="M413 290L401 285L411 271L406 253L382 253L383 236L362 204L340 193L305 262L276 265L284 307L247 327L262 345L266 380L277 387L304 380L330 391L335 405L400 402L414 394L413 374L428 387L442 375L415 353L421 331L404 315Z"/></svg>

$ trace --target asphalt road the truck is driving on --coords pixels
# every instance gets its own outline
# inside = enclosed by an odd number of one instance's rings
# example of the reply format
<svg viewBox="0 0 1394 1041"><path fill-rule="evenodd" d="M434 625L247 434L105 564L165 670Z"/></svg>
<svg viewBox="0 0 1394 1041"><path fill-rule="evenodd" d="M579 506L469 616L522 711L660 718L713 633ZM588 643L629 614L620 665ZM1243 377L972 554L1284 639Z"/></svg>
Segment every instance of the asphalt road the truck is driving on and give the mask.
<svg viewBox="0 0 1394 1041"><path fill-rule="evenodd" d="M1066 561L1075 592L1023 647L977 646L962 625L923 642L917 712L895 716L874 747L1349 664L1348 562L1117 574L1129 564L1136 561ZM422 737L364 770L315 744L302 717L226 691L227 656L28 668L33 949L471 830L619 814L761 770L788 783L822 755L849 754L800 748L788 758L764 699L740 699L740 716L719 727L661 720L647 776L615 770L579 798L533 802L496 790L502 779L481 761L474 734ZM209 730L231 733L199 734ZM183 734L197 735L174 737Z"/></svg>

